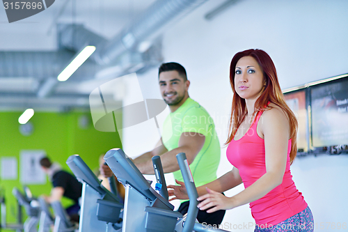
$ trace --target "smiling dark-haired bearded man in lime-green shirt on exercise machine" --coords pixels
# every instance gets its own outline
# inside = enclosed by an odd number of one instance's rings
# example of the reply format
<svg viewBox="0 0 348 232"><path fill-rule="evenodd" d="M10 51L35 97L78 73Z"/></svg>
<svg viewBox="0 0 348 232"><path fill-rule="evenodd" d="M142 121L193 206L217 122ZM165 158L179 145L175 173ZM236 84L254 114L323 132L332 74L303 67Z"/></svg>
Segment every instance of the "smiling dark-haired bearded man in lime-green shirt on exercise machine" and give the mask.
<svg viewBox="0 0 348 232"><path fill-rule="evenodd" d="M179 63L163 63L159 67L159 89L171 114L164 121L157 146L133 162L141 173L154 174L151 158L160 155L164 173L173 172L176 183L181 184L182 174L175 155L186 153L193 179L196 186L200 186L216 180L220 143L212 118L189 97L189 86L186 70ZM106 177L113 175L106 165L101 165L100 172ZM188 208L189 201L182 201L178 211L184 215ZM206 210L199 210L197 219L200 223L219 225L225 212L218 210L209 214Z"/></svg>

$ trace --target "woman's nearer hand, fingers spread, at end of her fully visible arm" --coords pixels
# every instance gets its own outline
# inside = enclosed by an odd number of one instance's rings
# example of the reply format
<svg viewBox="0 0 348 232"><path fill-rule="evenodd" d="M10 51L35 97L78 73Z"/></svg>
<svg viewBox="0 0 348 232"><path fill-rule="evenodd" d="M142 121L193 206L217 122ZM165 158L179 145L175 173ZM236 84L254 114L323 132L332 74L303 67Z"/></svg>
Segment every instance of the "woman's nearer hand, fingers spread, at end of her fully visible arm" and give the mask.
<svg viewBox="0 0 348 232"><path fill-rule="evenodd" d="M214 190L209 190L206 188L207 194L198 197L198 208L200 210L207 210L207 212L215 212L217 210L229 210L235 208L232 197L227 197L220 192L215 192Z"/></svg>

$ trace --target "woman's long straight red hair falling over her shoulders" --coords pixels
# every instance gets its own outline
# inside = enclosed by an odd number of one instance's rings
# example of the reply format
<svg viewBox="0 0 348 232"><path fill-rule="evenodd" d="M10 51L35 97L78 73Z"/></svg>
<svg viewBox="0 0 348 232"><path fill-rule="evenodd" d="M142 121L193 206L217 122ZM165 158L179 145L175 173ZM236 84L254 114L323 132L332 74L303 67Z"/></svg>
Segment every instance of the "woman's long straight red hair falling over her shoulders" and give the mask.
<svg viewBox="0 0 348 232"><path fill-rule="evenodd" d="M230 84L233 91L232 98L232 109L231 116L228 128L228 140L226 144L232 141L235 133L239 125L241 125L244 116L248 113L246 109L246 103L243 98L240 98L239 95L235 91L235 67L239 59L244 56L251 56L255 59L260 68L263 71L264 79L266 80L266 86L264 87L264 91L260 95L260 98L255 102L255 111L253 115L257 114L258 111L265 111L271 109L268 106L268 102L272 102L274 105L277 105L282 109L290 123L290 139L292 139L292 146L290 150L290 164L294 161L297 153L297 143L296 143L296 135L297 135L297 120L294 116L292 110L285 103L284 95L280 89L280 85L278 82L278 76L276 72L276 67L274 66L271 57L261 49L248 49L243 52L238 52L233 56L231 65L230 65Z"/></svg>

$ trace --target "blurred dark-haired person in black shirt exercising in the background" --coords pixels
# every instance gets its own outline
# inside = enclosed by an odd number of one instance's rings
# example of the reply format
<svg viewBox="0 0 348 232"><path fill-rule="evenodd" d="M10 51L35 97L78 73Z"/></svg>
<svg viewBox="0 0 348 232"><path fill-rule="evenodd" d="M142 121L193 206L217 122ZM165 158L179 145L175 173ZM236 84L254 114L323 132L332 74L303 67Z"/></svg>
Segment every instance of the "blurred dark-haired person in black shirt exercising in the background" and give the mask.
<svg viewBox="0 0 348 232"><path fill-rule="evenodd" d="M81 197L82 184L70 173L63 171L59 164L52 163L49 157L43 157L40 160L40 165L53 185L51 195L45 196L45 200L52 203L53 201L61 201L63 196L72 199L74 204L66 208L66 212L72 220L79 222L79 198Z"/></svg>

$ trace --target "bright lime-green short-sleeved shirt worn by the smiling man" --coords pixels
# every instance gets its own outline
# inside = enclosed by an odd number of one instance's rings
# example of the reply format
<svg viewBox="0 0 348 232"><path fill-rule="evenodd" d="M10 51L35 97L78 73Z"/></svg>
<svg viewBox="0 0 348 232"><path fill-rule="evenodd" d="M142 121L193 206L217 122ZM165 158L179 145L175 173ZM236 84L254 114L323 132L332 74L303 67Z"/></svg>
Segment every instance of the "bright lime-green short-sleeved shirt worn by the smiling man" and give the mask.
<svg viewBox="0 0 348 232"><path fill-rule="evenodd" d="M169 114L162 128L162 141L167 150L178 147L183 132L197 132L205 136L205 144L189 165L196 187L216 179L220 162L220 143L212 117L198 102L187 100L176 111ZM181 171L174 171L174 178L184 181Z"/></svg>

